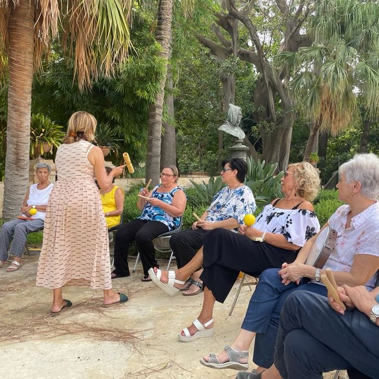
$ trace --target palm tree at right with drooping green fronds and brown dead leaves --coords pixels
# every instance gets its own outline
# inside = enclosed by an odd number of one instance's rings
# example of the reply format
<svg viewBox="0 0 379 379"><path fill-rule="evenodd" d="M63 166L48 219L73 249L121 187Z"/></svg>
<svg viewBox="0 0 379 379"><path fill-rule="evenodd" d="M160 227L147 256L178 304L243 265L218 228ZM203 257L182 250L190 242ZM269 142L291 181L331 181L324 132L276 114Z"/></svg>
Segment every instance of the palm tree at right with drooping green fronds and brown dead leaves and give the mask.
<svg viewBox="0 0 379 379"><path fill-rule="evenodd" d="M360 120L379 118L379 5L322 0L313 20L315 42L282 53L292 66L291 88L311 121L304 151L309 160L319 130L333 135Z"/></svg>

